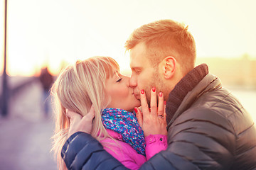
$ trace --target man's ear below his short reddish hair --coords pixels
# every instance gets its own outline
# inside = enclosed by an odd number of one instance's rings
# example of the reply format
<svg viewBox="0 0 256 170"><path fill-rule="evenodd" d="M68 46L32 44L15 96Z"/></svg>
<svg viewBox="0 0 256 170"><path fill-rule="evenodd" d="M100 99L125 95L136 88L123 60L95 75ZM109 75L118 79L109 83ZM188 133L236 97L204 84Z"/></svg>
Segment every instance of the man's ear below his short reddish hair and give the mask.
<svg viewBox="0 0 256 170"><path fill-rule="evenodd" d="M176 71L177 61L174 57L168 56L163 60L162 69L164 71L164 78L171 79Z"/></svg>

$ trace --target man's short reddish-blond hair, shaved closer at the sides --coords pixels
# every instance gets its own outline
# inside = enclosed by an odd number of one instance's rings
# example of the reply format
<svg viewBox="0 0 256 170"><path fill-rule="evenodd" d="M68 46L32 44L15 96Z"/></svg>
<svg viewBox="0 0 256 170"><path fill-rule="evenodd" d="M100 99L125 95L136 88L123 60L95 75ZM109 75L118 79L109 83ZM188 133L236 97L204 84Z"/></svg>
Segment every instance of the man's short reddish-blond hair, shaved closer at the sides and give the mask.
<svg viewBox="0 0 256 170"><path fill-rule="evenodd" d="M184 74L195 66L196 43L188 32L188 26L172 20L160 20L145 24L134 30L125 43L130 50L144 42L151 64L157 66L164 57L175 57Z"/></svg>

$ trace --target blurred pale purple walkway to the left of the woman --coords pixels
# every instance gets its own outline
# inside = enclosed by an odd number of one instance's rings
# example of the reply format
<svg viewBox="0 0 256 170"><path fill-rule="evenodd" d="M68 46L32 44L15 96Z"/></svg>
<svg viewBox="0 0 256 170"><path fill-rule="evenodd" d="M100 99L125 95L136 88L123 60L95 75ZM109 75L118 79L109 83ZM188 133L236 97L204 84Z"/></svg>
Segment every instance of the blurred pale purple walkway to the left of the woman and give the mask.
<svg viewBox="0 0 256 170"><path fill-rule="evenodd" d="M41 111L41 84L34 82L11 98L9 116L0 118L0 169L57 169L50 153L53 120Z"/></svg>

